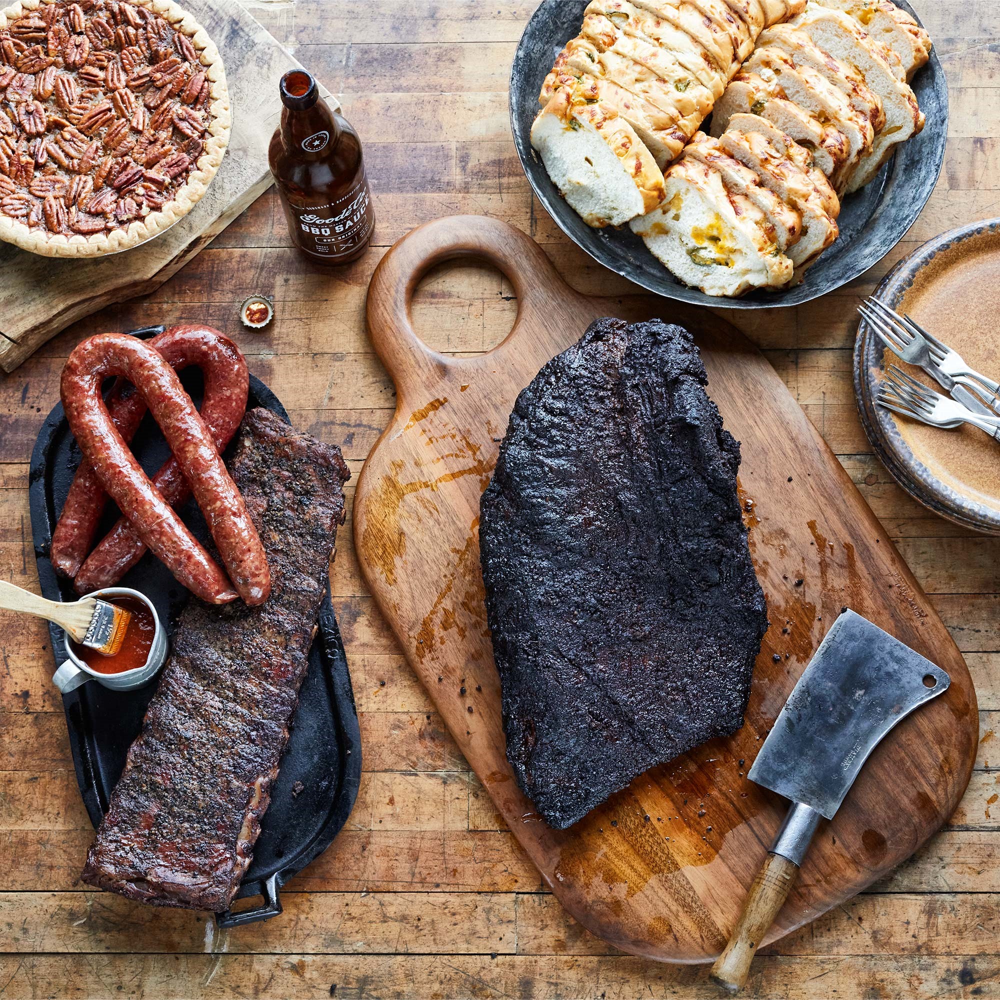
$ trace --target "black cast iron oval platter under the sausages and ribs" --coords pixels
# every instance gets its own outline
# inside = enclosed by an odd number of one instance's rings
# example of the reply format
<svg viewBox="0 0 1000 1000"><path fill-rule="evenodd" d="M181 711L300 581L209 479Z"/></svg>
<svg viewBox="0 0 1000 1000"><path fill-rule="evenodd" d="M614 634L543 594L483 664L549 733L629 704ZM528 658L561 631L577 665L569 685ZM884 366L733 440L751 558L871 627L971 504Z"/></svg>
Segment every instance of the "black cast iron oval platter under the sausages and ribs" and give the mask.
<svg viewBox="0 0 1000 1000"><path fill-rule="evenodd" d="M132 331L149 337L163 327ZM181 380L196 402L201 398L197 369L181 373ZM263 406L288 420L278 398L259 379L250 377L247 408ZM147 416L133 441L133 450L147 472L166 459L168 449L152 419ZM74 600L72 584L58 577L49 560L52 529L66 492L80 462L62 405L48 415L31 456L31 528L42 593L51 600ZM118 516L109 504L99 536ZM201 513L193 500L181 508L184 521L200 539L207 537ZM149 596L168 633L187 603L188 592L157 559L148 553L121 581ZM50 627L56 665L62 662L62 630ZM63 695L70 746L80 794L96 827L108 808L115 782L125 765L125 754L142 726L146 706L156 691L159 675L136 691L111 691L90 681ZM218 914L222 927L266 920L281 913L282 885L321 854L333 841L357 798L361 778L361 737L354 706L351 677L340 630L330 604L323 598L319 630L309 652L309 669L302 683L288 748L281 759L271 804L261 824L253 862L240 885L237 899L263 897L259 905ZM294 791L301 782L301 789ZM83 866L80 858L80 866Z"/></svg>

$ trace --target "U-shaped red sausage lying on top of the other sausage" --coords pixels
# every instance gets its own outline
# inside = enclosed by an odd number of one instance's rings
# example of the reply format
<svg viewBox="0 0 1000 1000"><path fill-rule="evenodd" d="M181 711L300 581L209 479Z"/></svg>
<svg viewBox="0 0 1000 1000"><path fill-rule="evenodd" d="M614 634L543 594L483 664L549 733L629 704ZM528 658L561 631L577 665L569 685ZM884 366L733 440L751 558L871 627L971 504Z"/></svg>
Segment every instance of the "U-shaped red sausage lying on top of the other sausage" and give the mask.
<svg viewBox="0 0 1000 1000"><path fill-rule="evenodd" d="M191 485L236 591L248 605L263 603L271 590L264 548L211 433L160 353L118 333L78 344L60 384L70 430L101 484L180 583L213 604L235 598L222 571L153 488L115 428L101 396L101 380L109 375L128 379L142 394Z"/></svg>

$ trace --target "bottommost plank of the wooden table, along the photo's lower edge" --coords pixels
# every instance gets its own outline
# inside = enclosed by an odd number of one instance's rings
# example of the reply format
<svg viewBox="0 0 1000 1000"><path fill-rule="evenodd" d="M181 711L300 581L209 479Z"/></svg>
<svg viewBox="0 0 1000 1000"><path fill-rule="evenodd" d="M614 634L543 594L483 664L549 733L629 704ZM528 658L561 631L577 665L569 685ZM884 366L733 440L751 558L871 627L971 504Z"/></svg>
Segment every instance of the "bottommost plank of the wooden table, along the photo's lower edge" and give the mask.
<svg viewBox="0 0 1000 1000"><path fill-rule="evenodd" d="M706 966L653 965L627 956L423 955L22 955L0 959L5 996L27 1000L400 1000L412 996L531 997L532 1000L718 1000ZM762 955L748 997L1000 996L995 956L875 955L799 958Z"/></svg>

